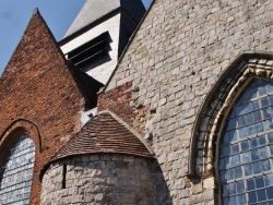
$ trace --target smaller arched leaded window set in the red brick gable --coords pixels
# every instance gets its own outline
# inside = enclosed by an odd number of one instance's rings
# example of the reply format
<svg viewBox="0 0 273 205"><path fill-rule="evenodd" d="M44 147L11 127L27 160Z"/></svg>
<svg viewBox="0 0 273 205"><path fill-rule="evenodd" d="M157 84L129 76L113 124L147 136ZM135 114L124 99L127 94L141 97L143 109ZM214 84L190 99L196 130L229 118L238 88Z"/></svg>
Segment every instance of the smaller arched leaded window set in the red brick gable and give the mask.
<svg viewBox="0 0 273 205"><path fill-rule="evenodd" d="M1 168L0 204L29 204L34 160L35 144L22 135Z"/></svg>

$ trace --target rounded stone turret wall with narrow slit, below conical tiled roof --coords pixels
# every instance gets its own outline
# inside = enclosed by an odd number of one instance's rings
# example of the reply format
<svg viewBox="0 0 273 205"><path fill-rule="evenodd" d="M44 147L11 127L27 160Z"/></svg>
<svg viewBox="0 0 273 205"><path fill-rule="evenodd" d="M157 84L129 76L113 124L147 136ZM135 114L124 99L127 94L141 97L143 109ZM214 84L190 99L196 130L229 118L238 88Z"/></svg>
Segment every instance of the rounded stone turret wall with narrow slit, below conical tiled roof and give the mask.
<svg viewBox="0 0 273 205"><path fill-rule="evenodd" d="M83 155L54 162L43 178L41 205L154 204L150 162L117 154Z"/></svg>

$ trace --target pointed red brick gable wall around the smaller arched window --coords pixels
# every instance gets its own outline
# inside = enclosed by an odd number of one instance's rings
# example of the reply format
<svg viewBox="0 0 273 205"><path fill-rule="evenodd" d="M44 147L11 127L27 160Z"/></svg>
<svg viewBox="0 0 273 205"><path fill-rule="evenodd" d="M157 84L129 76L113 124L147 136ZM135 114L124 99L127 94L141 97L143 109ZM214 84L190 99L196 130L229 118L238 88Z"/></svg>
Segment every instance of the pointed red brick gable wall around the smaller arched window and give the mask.
<svg viewBox="0 0 273 205"><path fill-rule="evenodd" d="M83 106L51 33L34 14L0 79L0 167L17 135L28 134L36 146L31 204L39 204L40 170L79 131Z"/></svg>

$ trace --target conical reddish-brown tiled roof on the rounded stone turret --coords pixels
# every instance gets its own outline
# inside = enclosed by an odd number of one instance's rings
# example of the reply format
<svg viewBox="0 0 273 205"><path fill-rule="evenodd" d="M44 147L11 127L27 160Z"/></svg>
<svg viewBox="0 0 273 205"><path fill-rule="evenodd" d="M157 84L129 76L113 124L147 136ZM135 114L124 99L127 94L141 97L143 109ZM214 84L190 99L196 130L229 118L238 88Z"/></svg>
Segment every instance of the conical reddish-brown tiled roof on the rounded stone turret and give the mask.
<svg viewBox="0 0 273 205"><path fill-rule="evenodd" d="M153 157L135 131L110 111L105 111L92 118L50 162L69 156L96 153Z"/></svg>

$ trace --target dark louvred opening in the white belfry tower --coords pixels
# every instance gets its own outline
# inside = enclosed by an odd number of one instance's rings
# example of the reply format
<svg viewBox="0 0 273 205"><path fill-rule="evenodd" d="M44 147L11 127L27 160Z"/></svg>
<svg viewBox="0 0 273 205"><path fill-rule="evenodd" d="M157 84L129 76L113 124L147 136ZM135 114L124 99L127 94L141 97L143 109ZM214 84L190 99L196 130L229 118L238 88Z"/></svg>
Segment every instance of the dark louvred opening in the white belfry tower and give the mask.
<svg viewBox="0 0 273 205"><path fill-rule="evenodd" d="M108 32L105 32L67 55L68 60L74 65L84 68L106 56L109 50L110 36Z"/></svg>

